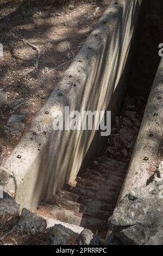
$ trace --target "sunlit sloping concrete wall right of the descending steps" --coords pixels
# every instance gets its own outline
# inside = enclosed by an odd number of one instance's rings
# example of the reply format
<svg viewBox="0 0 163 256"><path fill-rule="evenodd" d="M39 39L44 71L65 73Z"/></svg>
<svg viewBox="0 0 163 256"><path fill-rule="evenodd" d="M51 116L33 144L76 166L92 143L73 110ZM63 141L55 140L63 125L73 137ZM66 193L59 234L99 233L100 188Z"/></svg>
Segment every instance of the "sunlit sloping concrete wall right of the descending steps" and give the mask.
<svg viewBox="0 0 163 256"><path fill-rule="evenodd" d="M145 114L120 198L129 191L146 186L151 166L158 153L163 131L163 58L153 82Z"/></svg>

